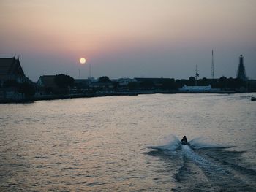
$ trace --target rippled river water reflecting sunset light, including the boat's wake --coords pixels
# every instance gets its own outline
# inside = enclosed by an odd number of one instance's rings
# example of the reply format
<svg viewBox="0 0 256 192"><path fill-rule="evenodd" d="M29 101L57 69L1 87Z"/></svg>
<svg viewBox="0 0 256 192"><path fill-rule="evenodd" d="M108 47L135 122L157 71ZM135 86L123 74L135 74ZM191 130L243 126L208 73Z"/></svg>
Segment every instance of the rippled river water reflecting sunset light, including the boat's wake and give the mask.
<svg viewBox="0 0 256 192"><path fill-rule="evenodd" d="M0 104L0 191L255 191L249 96Z"/></svg>

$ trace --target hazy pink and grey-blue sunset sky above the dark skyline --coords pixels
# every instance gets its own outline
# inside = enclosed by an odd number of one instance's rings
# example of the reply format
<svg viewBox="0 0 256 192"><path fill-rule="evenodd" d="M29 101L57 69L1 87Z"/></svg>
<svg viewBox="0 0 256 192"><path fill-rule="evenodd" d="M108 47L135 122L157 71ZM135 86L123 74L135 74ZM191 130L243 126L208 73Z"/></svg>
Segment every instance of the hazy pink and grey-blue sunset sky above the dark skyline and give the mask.
<svg viewBox="0 0 256 192"><path fill-rule="evenodd" d="M256 79L255 0L0 0L0 57L26 76ZM86 64L80 64L86 58Z"/></svg>

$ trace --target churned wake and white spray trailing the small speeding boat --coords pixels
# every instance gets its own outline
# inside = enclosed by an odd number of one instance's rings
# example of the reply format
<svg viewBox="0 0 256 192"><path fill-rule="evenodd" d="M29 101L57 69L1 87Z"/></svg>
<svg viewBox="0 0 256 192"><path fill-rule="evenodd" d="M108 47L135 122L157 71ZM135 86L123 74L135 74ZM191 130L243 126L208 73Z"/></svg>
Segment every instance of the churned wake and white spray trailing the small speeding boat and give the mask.
<svg viewBox="0 0 256 192"><path fill-rule="evenodd" d="M256 172L239 165L242 152L225 150L233 146L216 145L203 137L181 145L175 135L169 138L165 145L148 147L153 150L147 154L162 158L171 167L173 177L181 184L176 191L253 190Z"/></svg>

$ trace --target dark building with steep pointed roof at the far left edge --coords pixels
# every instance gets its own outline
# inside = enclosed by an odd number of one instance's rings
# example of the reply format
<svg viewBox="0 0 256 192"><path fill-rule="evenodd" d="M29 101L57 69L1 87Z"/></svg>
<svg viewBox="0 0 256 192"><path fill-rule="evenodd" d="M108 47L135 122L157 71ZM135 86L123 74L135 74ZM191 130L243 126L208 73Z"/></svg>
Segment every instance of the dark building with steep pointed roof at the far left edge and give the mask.
<svg viewBox="0 0 256 192"><path fill-rule="evenodd" d="M0 85L5 81L15 80L17 82L30 82L23 72L19 58L0 58Z"/></svg>

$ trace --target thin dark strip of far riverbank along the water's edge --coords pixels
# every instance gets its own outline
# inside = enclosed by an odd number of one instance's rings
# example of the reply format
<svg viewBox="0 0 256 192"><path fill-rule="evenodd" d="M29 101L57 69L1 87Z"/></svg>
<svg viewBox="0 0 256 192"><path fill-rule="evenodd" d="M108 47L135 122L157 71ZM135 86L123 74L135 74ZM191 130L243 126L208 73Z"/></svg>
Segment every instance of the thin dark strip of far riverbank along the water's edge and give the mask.
<svg viewBox="0 0 256 192"><path fill-rule="evenodd" d="M69 94L69 95L44 95L33 96L26 99L0 99L0 104L15 104L15 103L30 103L34 101L50 101L58 99L76 99L76 98L91 98L102 96L138 96L145 94L234 94L234 93L256 93L256 91L131 91L131 92L102 92L102 93L83 93L83 94Z"/></svg>

